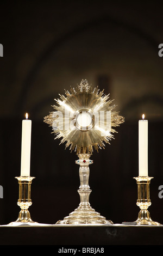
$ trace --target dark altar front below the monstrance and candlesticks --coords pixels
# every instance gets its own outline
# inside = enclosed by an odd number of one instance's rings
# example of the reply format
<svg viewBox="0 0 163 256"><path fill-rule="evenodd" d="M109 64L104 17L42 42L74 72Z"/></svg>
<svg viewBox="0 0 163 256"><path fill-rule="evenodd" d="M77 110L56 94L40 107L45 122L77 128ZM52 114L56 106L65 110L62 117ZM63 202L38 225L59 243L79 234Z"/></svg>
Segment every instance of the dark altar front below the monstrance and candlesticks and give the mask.
<svg viewBox="0 0 163 256"><path fill-rule="evenodd" d="M0 245L163 245L160 226L0 227Z"/></svg>

